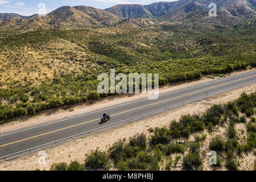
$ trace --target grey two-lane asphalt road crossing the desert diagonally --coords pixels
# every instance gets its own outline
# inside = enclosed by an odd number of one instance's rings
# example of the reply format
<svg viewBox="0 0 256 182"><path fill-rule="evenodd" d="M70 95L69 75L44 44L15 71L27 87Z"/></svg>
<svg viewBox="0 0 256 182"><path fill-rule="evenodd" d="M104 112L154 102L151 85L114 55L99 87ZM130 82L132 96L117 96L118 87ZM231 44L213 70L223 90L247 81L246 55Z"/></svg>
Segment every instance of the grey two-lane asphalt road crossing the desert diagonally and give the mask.
<svg viewBox="0 0 256 182"><path fill-rule="evenodd" d="M256 82L256 71L160 94L158 100L148 100L146 98L113 107L106 107L106 109L90 113L85 111L85 114L76 117L13 133L0 134L0 159L10 158L11 156L38 150L63 140L92 133L93 131L148 117L151 114L203 100L204 98L254 82ZM100 117L104 111L110 115L111 119L106 123L100 124Z"/></svg>

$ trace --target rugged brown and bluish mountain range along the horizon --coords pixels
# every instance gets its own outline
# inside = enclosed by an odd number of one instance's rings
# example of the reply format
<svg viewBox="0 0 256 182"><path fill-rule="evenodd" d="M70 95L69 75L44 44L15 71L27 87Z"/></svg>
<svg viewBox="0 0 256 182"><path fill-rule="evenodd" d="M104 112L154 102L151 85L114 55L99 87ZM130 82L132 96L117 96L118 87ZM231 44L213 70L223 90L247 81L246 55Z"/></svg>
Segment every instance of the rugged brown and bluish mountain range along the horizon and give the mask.
<svg viewBox="0 0 256 182"><path fill-rule="evenodd" d="M256 15L256 0L180 0L151 5L116 5L101 10L88 6L62 6L46 16L0 14L0 30L105 27L124 19L188 20L207 16L209 4L216 3L222 22L250 19Z"/></svg>

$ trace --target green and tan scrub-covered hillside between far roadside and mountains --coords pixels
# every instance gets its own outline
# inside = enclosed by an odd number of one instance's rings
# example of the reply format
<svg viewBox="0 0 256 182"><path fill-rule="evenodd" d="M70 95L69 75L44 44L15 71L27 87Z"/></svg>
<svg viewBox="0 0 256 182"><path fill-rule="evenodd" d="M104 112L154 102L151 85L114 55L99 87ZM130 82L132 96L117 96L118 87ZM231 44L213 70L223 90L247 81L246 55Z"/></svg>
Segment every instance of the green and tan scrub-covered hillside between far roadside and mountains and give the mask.
<svg viewBox="0 0 256 182"><path fill-rule="evenodd" d="M0 120L105 97L94 90L110 68L159 73L164 85L255 67L255 19L228 32L183 26L0 32Z"/></svg>

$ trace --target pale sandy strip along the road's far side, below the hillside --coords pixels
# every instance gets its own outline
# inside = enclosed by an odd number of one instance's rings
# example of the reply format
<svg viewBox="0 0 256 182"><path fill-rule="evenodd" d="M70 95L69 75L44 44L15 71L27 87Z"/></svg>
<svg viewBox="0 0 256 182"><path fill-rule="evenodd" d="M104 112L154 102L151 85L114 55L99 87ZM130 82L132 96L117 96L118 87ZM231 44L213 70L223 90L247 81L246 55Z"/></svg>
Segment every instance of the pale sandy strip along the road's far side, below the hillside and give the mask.
<svg viewBox="0 0 256 182"><path fill-rule="evenodd" d="M246 71L236 71L232 73L230 76L239 75L241 73L251 72L255 70L256 68L247 69ZM215 80L218 80L218 79L222 79L222 78L215 77ZM183 89L190 86L203 84L209 81L213 81L213 79L204 77L201 80L166 85L159 89L159 93L161 94L165 92L171 92L173 90ZM61 119L73 117L76 115L81 115L90 111L103 109L104 107L106 107L106 104L108 104L108 106L114 106L114 105L122 104L124 102L131 102L131 101L139 100L146 97L147 97L147 94L135 94L133 96L129 94L123 94L121 96L112 96L112 97L104 98L94 103L89 103L88 101L87 105L79 104L79 105L72 106L71 109L51 109L51 110L41 111L40 113L36 114L34 117L27 115L25 117L16 118L15 121L0 125L0 134L9 133L11 131L16 131L16 130L22 130L27 127L38 126L44 123L59 121Z"/></svg>

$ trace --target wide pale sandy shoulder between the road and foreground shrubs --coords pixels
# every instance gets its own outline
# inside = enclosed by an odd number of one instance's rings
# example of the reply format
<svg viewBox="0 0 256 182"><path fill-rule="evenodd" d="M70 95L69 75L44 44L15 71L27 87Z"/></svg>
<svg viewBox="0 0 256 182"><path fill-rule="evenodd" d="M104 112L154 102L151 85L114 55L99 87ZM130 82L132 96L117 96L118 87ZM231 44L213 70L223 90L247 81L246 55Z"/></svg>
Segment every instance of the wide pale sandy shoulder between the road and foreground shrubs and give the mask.
<svg viewBox="0 0 256 182"><path fill-rule="evenodd" d="M139 121L126 123L121 126L113 127L112 129L98 131L97 133L93 133L79 139L73 139L69 142L58 144L57 146L45 148L45 165L38 163L40 158L40 156L38 156L38 152L32 152L27 155L19 156L15 159L9 159L1 162L0 170L34 170L37 168L41 170L48 170L52 163L70 163L72 160L84 162L85 154L90 150L96 150L96 148L99 148L100 150L106 151L108 150L109 146L116 142L118 139L133 137L137 133L145 133L146 135L150 135L147 131L150 127L154 128L168 126L171 120L179 119L180 115L182 114L199 114L213 104L222 104L228 101L233 101L238 98L242 92L245 91L246 93L251 93L255 92L255 90L256 84L251 84L246 86L246 88L225 92L200 102L194 102L189 105L154 115L151 118L144 118ZM222 129L218 132L223 133L225 131ZM207 141L209 142L209 138L207 138ZM207 149L207 147L205 147L205 149ZM250 161L250 158L253 157L254 156L250 154L245 156L243 160ZM175 156L172 157L172 160L174 159ZM205 161L207 160L208 159L205 158ZM210 169L210 167L207 167L207 164L205 165L206 166L204 169ZM180 166L181 160L175 169L181 169ZM174 168L172 169L174 170Z"/></svg>

